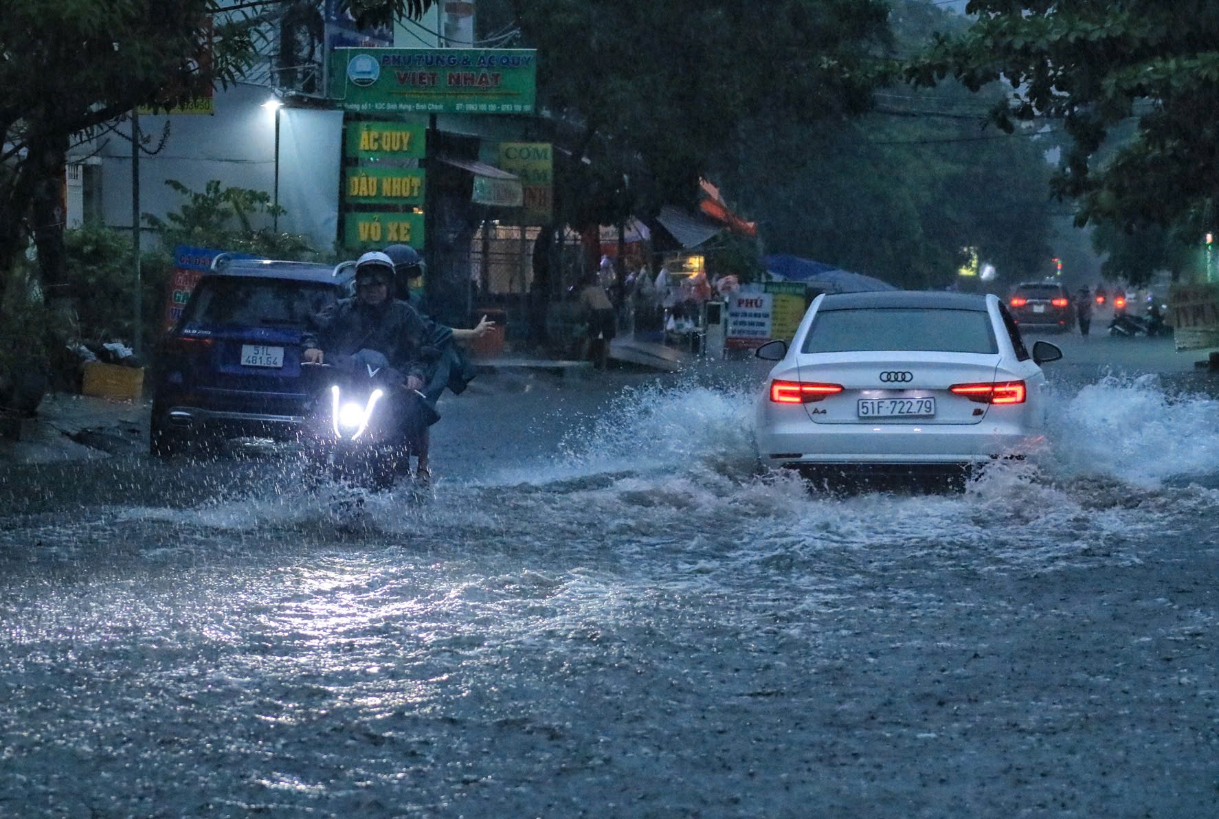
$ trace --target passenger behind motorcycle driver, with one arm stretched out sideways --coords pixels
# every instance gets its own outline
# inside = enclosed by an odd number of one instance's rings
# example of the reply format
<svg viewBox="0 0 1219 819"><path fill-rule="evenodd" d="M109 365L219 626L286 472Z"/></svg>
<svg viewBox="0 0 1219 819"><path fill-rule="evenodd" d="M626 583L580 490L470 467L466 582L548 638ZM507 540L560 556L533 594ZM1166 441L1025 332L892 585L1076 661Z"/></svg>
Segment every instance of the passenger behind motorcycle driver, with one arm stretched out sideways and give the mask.
<svg viewBox="0 0 1219 819"><path fill-rule="evenodd" d="M424 385L421 388L423 400L435 411L440 394L449 388L453 395L461 395L466 385L474 378L474 368L466 360L455 340L477 339L489 333L495 322L482 318L474 329L453 329L433 321L412 299L411 283L423 278L423 258L410 245L389 245L384 251L394 263L394 297L411 302L423 319L423 353L427 362ZM432 474L428 470L428 451L432 446L432 434L428 427L421 427L418 436L412 441L412 450L418 457L416 479L427 483Z"/></svg>

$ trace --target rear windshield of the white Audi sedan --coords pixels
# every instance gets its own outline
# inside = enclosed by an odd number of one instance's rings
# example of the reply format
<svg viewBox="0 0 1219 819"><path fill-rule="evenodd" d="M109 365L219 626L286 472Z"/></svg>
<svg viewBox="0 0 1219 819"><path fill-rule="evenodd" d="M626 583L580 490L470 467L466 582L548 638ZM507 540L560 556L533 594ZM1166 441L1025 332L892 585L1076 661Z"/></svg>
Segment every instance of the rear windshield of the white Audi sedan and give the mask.
<svg viewBox="0 0 1219 819"><path fill-rule="evenodd" d="M801 352L928 350L996 353L989 313L973 310L862 308L817 313Z"/></svg>

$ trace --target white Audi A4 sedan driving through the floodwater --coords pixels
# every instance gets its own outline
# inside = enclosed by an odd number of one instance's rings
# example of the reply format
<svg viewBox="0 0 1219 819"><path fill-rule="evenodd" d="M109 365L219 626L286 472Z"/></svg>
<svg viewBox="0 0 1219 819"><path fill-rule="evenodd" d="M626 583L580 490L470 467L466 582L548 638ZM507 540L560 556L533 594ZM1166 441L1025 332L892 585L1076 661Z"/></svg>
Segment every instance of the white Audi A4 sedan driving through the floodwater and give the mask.
<svg viewBox="0 0 1219 819"><path fill-rule="evenodd" d="M962 470L1019 456L1041 436L1046 378L993 295L883 291L818 296L757 408L762 461L816 473Z"/></svg>

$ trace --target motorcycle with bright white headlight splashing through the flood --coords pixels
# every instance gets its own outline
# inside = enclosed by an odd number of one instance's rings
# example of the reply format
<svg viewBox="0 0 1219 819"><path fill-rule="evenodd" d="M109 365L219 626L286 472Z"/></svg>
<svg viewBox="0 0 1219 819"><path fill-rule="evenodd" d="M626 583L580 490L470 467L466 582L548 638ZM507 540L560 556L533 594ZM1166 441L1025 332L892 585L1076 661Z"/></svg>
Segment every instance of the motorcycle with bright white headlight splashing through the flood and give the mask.
<svg viewBox="0 0 1219 819"><path fill-rule="evenodd" d="M361 350L301 367L313 373L302 430L307 484L330 479L383 491L410 474L419 424L438 416L422 392L406 389L406 378L385 356Z"/></svg>

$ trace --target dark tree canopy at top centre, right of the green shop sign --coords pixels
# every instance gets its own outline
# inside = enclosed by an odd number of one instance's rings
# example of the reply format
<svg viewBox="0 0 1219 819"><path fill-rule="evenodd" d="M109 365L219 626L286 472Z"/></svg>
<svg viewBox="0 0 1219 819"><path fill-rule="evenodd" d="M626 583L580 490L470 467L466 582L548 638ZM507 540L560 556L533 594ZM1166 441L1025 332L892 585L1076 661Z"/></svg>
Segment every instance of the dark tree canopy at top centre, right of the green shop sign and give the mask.
<svg viewBox="0 0 1219 819"><path fill-rule="evenodd" d="M583 205L584 218L607 222L692 201L701 173L778 117L816 122L865 110L887 30L881 0L513 7L522 44L544 55L540 107L570 128L577 162L588 156L611 168L595 201L588 188L566 199Z"/></svg>

